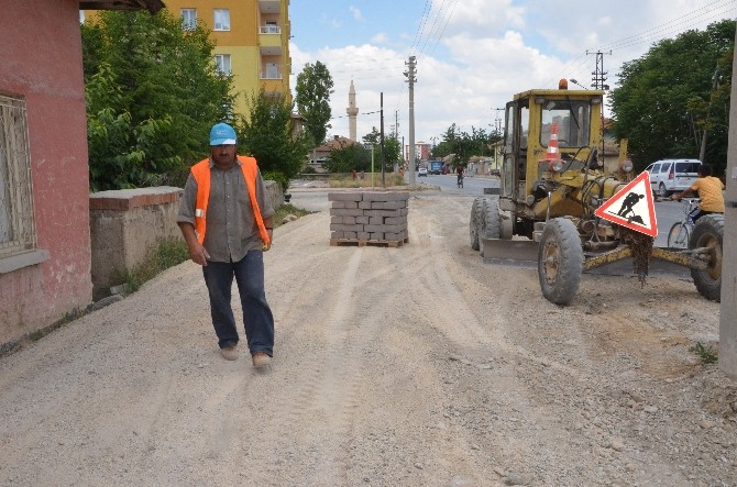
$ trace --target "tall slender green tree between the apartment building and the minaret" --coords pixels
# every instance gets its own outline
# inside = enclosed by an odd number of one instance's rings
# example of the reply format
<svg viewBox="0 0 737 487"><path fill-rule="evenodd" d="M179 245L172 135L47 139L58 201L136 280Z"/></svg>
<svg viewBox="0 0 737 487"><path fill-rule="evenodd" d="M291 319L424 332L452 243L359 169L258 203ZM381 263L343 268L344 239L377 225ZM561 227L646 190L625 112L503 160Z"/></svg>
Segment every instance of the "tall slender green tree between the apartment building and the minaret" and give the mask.
<svg viewBox="0 0 737 487"><path fill-rule="evenodd" d="M314 145L324 141L328 123L332 117L330 111L330 95L333 92L332 76L328 67L316 62L307 63L302 71L297 75L295 103L297 112L305 120L305 131L312 139Z"/></svg>

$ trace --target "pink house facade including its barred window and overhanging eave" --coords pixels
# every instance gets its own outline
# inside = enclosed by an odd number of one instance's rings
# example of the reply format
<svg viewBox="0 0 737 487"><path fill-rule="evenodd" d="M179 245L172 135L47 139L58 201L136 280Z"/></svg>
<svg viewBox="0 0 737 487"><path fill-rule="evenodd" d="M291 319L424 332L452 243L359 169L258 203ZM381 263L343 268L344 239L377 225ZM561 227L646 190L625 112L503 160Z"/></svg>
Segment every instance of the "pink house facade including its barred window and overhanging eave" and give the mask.
<svg viewBox="0 0 737 487"><path fill-rule="evenodd" d="M92 299L79 10L162 7L0 0L0 352Z"/></svg>

